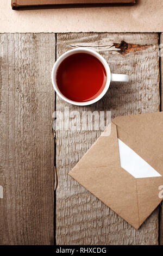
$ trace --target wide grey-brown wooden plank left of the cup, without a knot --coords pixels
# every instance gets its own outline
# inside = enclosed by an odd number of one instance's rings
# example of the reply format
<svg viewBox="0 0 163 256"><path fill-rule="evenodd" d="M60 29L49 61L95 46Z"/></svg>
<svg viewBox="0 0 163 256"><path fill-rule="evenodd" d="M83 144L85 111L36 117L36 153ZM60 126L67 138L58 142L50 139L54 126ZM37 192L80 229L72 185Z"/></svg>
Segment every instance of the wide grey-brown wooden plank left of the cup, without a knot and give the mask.
<svg viewBox="0 0 163 256"><path fill-rule="evenodd" d="M1 34L1 245L54 234L54 34Z"/></svg>

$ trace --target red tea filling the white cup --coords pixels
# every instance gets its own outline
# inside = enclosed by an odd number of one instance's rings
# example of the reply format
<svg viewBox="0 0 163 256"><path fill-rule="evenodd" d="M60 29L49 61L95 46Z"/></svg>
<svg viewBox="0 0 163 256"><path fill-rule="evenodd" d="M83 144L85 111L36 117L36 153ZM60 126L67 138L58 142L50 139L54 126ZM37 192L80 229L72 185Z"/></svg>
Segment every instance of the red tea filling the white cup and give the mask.
<svg viewBox="0 0 163 256"><path fill-rule="evenodd" d="M67 99L85 102L102 93L106 84L106 71L95 56L74 53L59 65L56 81L61 94Z"/></svg>

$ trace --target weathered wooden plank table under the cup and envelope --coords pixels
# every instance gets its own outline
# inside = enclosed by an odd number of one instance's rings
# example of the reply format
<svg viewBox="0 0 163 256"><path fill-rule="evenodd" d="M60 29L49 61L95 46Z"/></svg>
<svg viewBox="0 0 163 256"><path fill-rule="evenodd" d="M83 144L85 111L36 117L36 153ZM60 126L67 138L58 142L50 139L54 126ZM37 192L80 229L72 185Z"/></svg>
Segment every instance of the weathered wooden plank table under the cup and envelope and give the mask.
<svg viewBox="0 0 163 256"><path fill-rule="evenodd" d="M53 112L65 108L111 111L112 118L163 110L159 58L162 35L0 36L1 245L163 244L161 205L136 231L67 175L100 131L52 129ZM62 53L80 46L101 53L111 71L129 74L130 82L112 83L103 99L92 106L77 107L62 101L54 93L51 69Z"/></svg>

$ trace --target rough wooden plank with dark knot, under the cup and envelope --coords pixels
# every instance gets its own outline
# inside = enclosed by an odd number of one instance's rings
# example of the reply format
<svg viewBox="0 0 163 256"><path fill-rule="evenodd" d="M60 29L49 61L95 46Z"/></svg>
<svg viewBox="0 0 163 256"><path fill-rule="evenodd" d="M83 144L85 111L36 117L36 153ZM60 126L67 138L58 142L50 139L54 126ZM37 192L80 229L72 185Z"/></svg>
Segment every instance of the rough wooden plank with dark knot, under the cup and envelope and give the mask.
<svg viewBox="0 0 163 256"><path fill-rule="evenodd" d="M111 118L159 111L158 34L57 34L57 57L80 46L101 53L111 72L128 74L130 81L111 83L103 99L87 107L68 105L57 97L57 111L79 111L80 115L82 111L111 111ZM76 115L76 125L80 125L80 115ZM58 120L58 126L70 122L65 119ZM95 119L94 124L98 121ZM57 131L57 244L158 245L159 209L136 231L67 175L100 133L73 131L71 127Z"/></svg>

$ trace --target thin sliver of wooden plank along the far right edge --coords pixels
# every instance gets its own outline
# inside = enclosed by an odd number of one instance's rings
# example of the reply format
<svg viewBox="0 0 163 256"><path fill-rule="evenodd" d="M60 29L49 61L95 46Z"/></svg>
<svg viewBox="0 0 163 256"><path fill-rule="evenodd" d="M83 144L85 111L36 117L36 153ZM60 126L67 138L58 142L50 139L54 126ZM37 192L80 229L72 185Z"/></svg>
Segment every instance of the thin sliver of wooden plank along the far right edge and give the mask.
<svg viewBox="0 0 163 256"><path fill-rule="evenodd" d="M161 98L161 105L160 111L163 111L163 34L160 34L160 60L161 60L161 83L160 83L160 98ZM161 203L160 206L160 245L163 245L163 204Z"/></svg>

